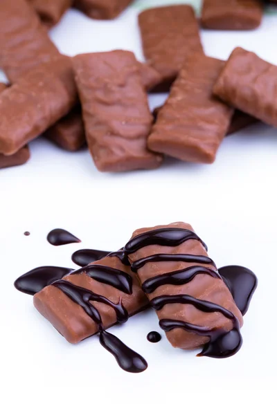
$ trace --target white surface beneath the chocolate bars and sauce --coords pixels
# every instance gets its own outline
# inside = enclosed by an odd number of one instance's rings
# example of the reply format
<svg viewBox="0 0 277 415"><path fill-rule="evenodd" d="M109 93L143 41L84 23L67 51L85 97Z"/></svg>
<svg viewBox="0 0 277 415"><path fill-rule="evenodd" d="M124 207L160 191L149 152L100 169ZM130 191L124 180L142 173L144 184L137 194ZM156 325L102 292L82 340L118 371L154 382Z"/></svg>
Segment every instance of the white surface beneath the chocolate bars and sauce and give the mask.
<svg viewBox="0 0 277 415"><path fill-rule="evenodd" d="M142 58L135 8L114 22L70 11L51 36L69 55L128 48ZM276 37L277 16L265 17L251 33L202 33L208 55L226 58L240 45L277 64ZM159 97L150 100L152 107L159 104ZM175 414L174 407L178 414L276 413L276 136L276 129L259 124L226 138L213 165L169 159L157 171L127 174L101 174L88 151L68 154L40 138L30 145L27 165L0 172L0 409L7 405L1 413L106 414L110 408L133 414L139 408L149 413L152 405L154 413ZM127 374L97 338L66 343L32 297L12 285L36 266L73 266L74 250L115 250L134 229L171 221L190 222L217 266L240 264L258 275L244 345L233 358L195 358L195 351L170 347L164 335L150 344L147 333L161 330L154 311L147 311L110 330L148 360L143 374ZM82 243L49 245L46 234L56 227Z"/></svg>

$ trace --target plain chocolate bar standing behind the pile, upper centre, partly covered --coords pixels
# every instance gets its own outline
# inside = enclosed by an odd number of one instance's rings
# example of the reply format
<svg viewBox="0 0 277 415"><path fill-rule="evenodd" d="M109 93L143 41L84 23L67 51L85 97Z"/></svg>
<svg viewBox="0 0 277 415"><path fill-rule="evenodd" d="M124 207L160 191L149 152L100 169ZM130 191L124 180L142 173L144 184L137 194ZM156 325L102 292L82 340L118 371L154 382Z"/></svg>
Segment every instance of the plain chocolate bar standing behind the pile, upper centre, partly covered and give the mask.
<svg viewBox="0 0 277 415"><path fill-rule="evenodd" d="M141 12L139 27L143 52L166 82L177 77L190 53L203 52L191 6L167 6Z"/></svg>

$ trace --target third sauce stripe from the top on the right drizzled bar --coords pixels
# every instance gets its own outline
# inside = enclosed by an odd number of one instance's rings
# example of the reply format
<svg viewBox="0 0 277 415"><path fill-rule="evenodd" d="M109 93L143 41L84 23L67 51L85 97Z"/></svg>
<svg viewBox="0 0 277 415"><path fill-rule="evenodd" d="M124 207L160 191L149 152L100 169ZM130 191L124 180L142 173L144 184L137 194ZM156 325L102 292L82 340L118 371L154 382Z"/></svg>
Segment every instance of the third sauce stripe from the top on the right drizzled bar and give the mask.
<svg viewBox="0 0 277 415"><path fill-rule="evenodd" d="M211 268L206 268L205 266L190 266L184 270L172 271L172 273L157 275L157 277L147 279L143 282L141 288L144 293L149 294L153 293L153 291L164 284L188 284L188 282L192 281L197 274L208 274L211 275L211 277L221 279L220 274Z"/></svg>

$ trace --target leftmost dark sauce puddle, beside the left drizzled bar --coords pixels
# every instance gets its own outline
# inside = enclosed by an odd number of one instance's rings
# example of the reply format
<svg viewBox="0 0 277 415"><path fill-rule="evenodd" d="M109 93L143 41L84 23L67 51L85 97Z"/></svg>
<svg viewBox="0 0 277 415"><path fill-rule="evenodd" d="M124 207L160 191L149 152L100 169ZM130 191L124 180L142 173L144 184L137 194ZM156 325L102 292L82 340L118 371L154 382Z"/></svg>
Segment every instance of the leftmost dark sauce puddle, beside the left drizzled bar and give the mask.
<svg viewBox="0 0 277 415"><path fill-rule="evenodd" d="M28 273L21 275L15 280L15 288L21 293L35 295L42 288L61 279L64 275L70 274L71 268L62 268L60 266L39 266L30 270Z"/></svg>

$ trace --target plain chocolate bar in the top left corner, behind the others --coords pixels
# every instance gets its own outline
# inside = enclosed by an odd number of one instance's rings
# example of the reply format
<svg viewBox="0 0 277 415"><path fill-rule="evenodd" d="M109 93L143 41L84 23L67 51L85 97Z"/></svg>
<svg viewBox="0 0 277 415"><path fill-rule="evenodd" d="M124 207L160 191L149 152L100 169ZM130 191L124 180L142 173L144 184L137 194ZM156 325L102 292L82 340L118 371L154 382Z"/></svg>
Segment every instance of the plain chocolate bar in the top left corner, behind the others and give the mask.
<svg viewBox="0 0 277 415"><path fill-rule="evenodd" d="M0 1L0 67L10 82L60 53L26 0Z"/></svg>

